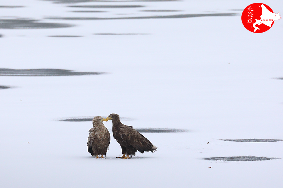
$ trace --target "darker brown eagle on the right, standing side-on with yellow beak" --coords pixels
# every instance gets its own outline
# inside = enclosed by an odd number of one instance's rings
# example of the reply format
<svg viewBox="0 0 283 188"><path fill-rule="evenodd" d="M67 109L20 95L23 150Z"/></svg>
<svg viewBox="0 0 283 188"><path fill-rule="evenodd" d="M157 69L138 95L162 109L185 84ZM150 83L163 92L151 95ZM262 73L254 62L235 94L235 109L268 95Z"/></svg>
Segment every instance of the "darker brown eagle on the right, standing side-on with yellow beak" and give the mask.
<svg viewBox="0 0 283 188"><path fill-rule="evenodd" d="M155 147L141 133L137 132L132 126L124 125L120 122L118 114L110 114L104 121L112 120L113 136L122 148L122 159L129 159L136 151L143 153L144 151L156 151ZM126 156L127 155L127 156Z"/></svg>

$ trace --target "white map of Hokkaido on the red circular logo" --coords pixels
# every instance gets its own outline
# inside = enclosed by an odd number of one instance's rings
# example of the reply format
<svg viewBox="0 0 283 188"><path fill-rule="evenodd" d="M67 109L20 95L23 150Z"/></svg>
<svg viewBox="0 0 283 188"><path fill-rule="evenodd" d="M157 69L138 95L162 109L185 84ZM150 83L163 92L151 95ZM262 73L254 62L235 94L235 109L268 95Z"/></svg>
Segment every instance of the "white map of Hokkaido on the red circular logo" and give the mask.
<svg viewBox="0 0 283 188"><path fill-rule="evenodd" d="M254 27L254 32L259 29L258 27L255 26L256 24L258 24L258 25L264 24L264 25L271 27L271 24L272 24L273 21L281 19L280 15L279 15L280 11L279 11L279 13L275 14L275 13L272 13L269 10L267 10L267 8L265 8L264 5L261 5L261 8L262 8L262 13L261 13L261 16L260 16L260 20L255 19L256 22L254 24L252 24L252 26ZM270 21L264 21L264 20L270 20Z"/></svg>

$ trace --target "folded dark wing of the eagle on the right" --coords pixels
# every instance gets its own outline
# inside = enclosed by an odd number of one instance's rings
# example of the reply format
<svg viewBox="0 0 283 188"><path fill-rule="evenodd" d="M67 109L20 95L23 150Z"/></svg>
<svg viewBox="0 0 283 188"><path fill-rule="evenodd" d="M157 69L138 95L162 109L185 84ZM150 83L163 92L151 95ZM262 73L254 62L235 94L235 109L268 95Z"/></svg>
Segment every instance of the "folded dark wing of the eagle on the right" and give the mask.
<svg viewBox="0 0 283 188"><path fill-rule="evenodd" d="M141 133L137 132L131 126L123 126L118 129L119 136L128 145L133 146L139 152L156 150L155 146L145 138Z"/></svg>

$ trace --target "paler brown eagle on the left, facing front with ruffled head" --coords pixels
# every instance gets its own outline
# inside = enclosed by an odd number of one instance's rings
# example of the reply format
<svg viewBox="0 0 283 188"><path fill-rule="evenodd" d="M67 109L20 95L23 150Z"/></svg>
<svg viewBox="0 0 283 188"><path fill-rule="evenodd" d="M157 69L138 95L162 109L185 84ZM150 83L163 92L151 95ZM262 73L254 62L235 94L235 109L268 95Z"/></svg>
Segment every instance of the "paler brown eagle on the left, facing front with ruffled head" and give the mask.
<svg viewBox="0 0 283 188"><path fill-rule="evenodd" d="M110 144L110 133L103 124L103 118L96 116L92 119L93 128L89 129L87 139L87 151L96 158L106 157L107 149ZM98 157L101 155L101 157Z"/></svg>

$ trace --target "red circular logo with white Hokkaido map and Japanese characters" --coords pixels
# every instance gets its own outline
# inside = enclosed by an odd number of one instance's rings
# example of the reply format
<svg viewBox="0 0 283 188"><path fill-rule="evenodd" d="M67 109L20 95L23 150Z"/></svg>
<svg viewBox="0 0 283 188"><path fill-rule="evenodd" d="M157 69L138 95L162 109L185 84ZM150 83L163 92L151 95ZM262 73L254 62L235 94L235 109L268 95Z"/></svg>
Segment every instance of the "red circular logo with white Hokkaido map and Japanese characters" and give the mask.
<svg viewBox="0 0 283 188"><path fill-rule="evenodd" d="M266 4L253 3L243 11L242 23L247 30L253 33L263 33L272 27L275 20L280 19L279 13L273 13Z"/></svg>

